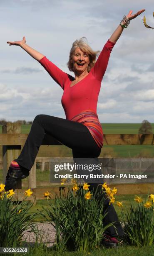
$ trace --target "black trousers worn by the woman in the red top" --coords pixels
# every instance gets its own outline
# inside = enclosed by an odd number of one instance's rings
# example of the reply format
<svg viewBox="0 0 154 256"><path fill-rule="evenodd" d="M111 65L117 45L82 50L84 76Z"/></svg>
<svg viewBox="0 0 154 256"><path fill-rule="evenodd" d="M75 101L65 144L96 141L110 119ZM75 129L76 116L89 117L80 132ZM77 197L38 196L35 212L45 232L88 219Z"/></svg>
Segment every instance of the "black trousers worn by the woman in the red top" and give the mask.
<svg viewBox="0 0 154 256"><path fill-rule="evenodd" d="M50 115L37 115L32 123L30 133L22 152L16 160L20 166L28 170L32 168L45 133L54 137L65 146L72 148L72 154L75 162L77 162L79 158L88 158L91 163L98 163L97 157L100 155L101 148L97 146L97 143L94 141L91 133L85 125ZM95 170L95 174L100 173L98 170ZM100 182L102 183L103 181L97 180L97 182L98 183L90 184L91 189L95 189L97 184ZM104 223L108 224L115 221L118 235L123 236L122 227L118 221L117 213L115 212L113 205L109 205L108 200L106 200L104 204L104 210L106 209L108 214L104 218ZM114 227L108 228L107 233L112 236L117 236Z"/></svg>

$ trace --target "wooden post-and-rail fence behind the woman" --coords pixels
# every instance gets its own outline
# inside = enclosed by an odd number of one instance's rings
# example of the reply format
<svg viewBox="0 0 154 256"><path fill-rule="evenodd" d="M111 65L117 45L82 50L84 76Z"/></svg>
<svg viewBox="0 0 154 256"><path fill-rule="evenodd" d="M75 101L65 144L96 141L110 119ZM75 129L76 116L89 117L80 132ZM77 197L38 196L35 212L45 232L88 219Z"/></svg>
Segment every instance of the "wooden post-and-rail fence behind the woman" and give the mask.
<svg viewBox="0 0 154 256"><path fill-rule="evenodd" d="M3 163L3 183L9 168L10 162L16 159L20 154L28 134L21 134L21 126L17 123L7 123L2 126L2 134L0 134L0 146L2 146L2 163ZM42 145L62 145L51 136L45 134ZM104 145L154 145L153 134L104 134ZM144 184L114 184L118 189L118 194L147 194L154 192L154 183ZM36 161L33 165L28 177L28 187L32 189L33 196L36 199L44 199L43 193L48 190L55 193L63 189L63 187L36 188ZM110 186L111 188L113 185ZM65 189L67 192L67 188ZM17 184L15 193L19 197L23 197L23 189L21 180Z"/></svg>

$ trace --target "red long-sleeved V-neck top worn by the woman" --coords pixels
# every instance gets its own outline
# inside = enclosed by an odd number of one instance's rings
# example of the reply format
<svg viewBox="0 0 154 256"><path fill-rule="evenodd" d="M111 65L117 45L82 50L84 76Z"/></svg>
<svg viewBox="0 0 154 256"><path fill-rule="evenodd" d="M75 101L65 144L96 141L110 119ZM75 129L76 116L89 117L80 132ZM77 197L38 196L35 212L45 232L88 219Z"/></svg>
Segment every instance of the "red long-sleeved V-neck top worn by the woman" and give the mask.
<svg viewBox="0 0 154 256"><path fill-rule="evenodd" d="M55 82L64 90L62 106L65 110L66 119L71 120L84 110L93 110L94 113L97 113L101 82L114 44L109 40L107 41L89 74L72 87L70 87L70 84L75 79L74 77L63 72L46 57L39 61Z"/></svg>

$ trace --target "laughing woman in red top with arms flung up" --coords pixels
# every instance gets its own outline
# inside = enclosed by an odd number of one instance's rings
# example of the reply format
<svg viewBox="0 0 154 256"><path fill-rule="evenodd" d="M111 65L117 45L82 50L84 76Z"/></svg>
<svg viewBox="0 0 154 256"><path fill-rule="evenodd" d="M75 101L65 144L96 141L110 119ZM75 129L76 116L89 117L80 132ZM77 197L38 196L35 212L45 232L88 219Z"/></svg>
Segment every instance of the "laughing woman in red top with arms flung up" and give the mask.
<svg viewBox="0 0 154 256"><path fill-rule="evenodd" d="M92 159L92 163L97 162L97 157L103 145L102 127L96 112L102 78L112 48L123 29L127 28L129 20L136 18L142 12L144 12L144 9L132 15L132 11L129 11L128 15L124 16L120 25L104 45L97 61L98 52L92 51L82 39L75 41L67 63L70 71L75 73L75 78L62 72L43 54L28 46L25 37L22 41L7 42L9 45L20 46L30 56L39 61L50 76L62 87L64 90L62 106L65 110L66 120L49 115L37 115L35 117L20 156L11 162L6 176L6 191L15 189L17 179L23 179L29 175L45 133L72 148L75 160L88 158ZM98 170L95 170L95 173L98 173ZM97 182L100 183L100 181ZM96 185L91 184L91 188L95 188ZM114 227L107 229L104 243L106 246L116 246L118 243L117 235L123 236L122 227L113 205L109 205L107 200L104 209L108 211L104 222L106 224L115 222L117 228L117 230Z"/></svg>

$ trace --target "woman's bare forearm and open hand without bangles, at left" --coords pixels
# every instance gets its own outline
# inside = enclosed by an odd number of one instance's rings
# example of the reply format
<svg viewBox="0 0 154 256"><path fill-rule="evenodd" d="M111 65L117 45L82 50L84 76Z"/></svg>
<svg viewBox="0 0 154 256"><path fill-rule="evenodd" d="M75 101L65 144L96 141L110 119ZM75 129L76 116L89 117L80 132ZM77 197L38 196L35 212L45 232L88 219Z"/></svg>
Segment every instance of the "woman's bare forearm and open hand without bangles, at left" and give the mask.
<svg viewBox="0 0 154 256"><path fill-rule="evenodd" d="M28 54L30 54L30 56L32 56L32 58L36 59L37 61L40 61L40 59L42 59L44 57L43 54L41 54L40 52L36 51L35 49L32 49L30 46L28 46L26 44L25 36L23 37L22 41L14 41L14 42L7 41L7 44L20 46Z"/></svg>

